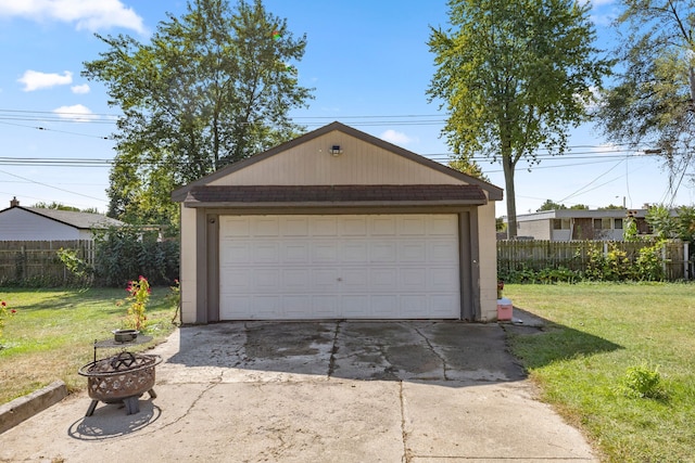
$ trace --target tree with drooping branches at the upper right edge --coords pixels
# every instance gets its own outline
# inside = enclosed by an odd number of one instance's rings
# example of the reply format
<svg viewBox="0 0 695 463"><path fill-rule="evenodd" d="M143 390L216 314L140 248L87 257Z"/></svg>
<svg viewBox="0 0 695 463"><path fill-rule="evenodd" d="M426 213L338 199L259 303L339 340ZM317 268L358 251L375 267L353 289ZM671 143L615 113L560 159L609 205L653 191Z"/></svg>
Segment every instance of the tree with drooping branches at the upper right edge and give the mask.
<svg viewBox="0 0 695 463"><path fill-rule="evenodd" d="M597 115L611 141L664 156L674 192L695 149L695 1L622 0L621 72Z"/></svg>

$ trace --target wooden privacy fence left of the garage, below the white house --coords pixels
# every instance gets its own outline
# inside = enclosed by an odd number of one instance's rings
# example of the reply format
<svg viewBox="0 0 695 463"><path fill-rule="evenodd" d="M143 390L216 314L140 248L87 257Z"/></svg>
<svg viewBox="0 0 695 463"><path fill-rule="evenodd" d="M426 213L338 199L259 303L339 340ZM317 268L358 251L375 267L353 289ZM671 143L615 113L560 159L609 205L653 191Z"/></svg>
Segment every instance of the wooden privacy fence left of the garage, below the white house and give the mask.
<svg viewBox="0 0 695 463"><path fill-rule="evenodd" d="M58 252L73 249L90 266L94 263L94 243L74 241L0 241L0 285L27 281L66 284L75 276L58 257Z"/></svg>

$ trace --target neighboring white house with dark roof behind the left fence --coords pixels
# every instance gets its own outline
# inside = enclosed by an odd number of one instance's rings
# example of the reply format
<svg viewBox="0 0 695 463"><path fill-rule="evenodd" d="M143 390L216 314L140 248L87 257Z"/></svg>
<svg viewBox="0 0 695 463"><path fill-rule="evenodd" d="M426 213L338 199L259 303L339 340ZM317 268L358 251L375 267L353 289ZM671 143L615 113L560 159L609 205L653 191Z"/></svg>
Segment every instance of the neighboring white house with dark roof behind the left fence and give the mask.
<svg viewBox="0 0 695 463"><path fill-rule="evenodd" d="M15 198L0 210L0 241L92 240L93 230L124 224L101 214L24 207Z"/></svg>

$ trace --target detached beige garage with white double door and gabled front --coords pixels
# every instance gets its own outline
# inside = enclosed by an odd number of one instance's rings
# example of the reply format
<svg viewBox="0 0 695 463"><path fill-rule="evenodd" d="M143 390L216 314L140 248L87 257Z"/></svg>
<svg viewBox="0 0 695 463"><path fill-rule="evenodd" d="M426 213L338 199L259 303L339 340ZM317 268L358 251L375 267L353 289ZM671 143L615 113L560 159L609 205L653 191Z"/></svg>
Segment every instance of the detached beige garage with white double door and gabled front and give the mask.
<svg viewBox="0 0 695 463"><path fill-rule="evenodd" d="M496 318L502 190L332 123L176 190L181 318Z"/></svg>

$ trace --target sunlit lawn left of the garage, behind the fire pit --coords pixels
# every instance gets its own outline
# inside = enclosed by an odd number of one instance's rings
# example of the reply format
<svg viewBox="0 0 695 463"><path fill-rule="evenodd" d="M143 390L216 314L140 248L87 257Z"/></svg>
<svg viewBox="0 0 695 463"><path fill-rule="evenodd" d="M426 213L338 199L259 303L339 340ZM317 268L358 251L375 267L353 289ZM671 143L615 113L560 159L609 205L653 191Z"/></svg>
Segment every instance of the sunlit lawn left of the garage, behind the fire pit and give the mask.
<svg viewBox="0 0 695 463"><path fill-rule="evenodd" d="M142 350L162 342L173 330L175 309L165 298L168 288L153 288L148 305L148 329L153 336ZM93 360L94 339L106 339L125 327L124 290L15 290L0 288L0 299L16 309L0 339L0 403L29 394L56 380L70 391L84 389L77 370ZM111 353L110 353L111 352ZM105 357L113 350L100 350Z"/></svg>

